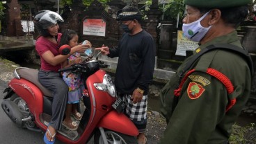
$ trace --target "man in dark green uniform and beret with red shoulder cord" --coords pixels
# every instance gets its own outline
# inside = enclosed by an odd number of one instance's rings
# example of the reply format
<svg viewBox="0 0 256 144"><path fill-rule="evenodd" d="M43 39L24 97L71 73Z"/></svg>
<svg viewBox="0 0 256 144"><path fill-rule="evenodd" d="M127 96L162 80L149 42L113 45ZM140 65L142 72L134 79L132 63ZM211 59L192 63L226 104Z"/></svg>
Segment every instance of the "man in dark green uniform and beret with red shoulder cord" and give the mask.
<svg viewBox="0 0 256 144"><path fill-rule="evenodd" d="M161 89L161 114L168 125L160 143L229 143L232 125L250 96L250 57L232 49L244 51L236 28L251 2L184 0L182 30L199 47ZM193 58L209 47L218 48Z"/></svg>

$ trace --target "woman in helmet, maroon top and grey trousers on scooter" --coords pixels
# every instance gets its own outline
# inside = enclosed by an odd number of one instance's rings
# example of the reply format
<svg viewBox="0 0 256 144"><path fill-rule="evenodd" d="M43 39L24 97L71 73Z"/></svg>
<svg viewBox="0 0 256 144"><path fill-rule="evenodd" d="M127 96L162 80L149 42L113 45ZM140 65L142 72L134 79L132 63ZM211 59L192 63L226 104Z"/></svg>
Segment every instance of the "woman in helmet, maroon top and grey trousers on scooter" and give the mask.
<svg viewBox="0 0 256 144"><path fill-rule="evenodd" d="M61 63L67 60L70 55L60 55L58 53L61 33L58 33L58 22L63 22L63 18L56 12L41 10L34 17L34 24L40 36L35 42L35 49L40 55L41 67L38 73L39 82L49 89L53 95L51 108L51 121L44 136L45 143L54 143L56 129L60 129L61 122L67 104L67 84L58 73ZM70 53L83 52L87 45L77 45L71 48Z"/></svg>

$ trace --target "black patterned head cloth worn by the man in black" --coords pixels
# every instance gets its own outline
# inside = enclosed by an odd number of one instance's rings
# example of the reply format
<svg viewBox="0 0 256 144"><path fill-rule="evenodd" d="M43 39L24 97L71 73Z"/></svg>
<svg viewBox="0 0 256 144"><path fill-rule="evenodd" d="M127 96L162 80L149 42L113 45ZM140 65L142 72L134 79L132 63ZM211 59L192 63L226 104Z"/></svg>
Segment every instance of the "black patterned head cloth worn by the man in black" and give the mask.
<svg viewBox="0 0 256 144"><path fill-rule="evenodd" d="M125 7L117 12L117 21L141 20L141 11L134 7Z"/></svg>

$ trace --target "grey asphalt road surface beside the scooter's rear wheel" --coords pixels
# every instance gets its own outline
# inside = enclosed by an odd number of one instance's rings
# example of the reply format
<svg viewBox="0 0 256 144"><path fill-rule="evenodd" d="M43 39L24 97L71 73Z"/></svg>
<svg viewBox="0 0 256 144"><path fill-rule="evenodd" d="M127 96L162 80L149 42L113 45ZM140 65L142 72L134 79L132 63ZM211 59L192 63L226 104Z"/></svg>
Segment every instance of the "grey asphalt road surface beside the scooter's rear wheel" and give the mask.
<svg viewBox="0 0 256 144"><path fill-rule="evenodd" d="M3 101L3 90L6 87L7 83L3 82L3 80L0 80L0 103ZM32 132L28 129L16 127L16 125L8 118L2 108L0 108L0 127L1 144L44 144L42 141L44 136L42 132ZM56 140L56 144L61 143L61 141Z"/></svg>

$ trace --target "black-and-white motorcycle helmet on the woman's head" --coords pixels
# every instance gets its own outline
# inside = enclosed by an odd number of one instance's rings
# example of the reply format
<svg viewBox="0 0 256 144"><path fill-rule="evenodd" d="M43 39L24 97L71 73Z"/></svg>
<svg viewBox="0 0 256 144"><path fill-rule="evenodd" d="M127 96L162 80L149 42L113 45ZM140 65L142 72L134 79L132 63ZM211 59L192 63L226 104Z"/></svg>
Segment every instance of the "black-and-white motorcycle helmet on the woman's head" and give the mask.
<svg viewBox="0 0 256 144"><path fill-rule="evenodd" d="M54 26L58 22L63 22L63 18L58 13L50 10L40 10L34 16L34 24L38 33L42 36L48 36L49 32L47 28Z"/></svg>

